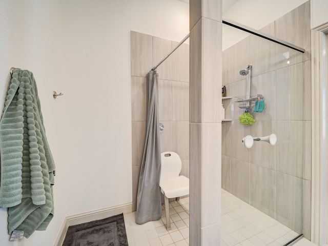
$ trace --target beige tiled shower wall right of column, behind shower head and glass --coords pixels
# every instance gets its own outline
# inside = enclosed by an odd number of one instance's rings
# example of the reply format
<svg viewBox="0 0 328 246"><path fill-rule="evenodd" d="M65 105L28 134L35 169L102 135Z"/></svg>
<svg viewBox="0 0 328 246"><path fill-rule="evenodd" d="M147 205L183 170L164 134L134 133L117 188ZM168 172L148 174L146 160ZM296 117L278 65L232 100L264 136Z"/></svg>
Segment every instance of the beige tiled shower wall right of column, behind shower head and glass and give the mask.
<svg viewBox="0 0 328 246"><path fill-rule="evenodd" d="M222 85L233 98L222 103L226 118L234 121L222 122L222 188L310 238L310 1L261 31L306 52L255 35L223 51ZM251 94L263 95L265 109L253 113L255 124L244 126L238 121L244 109L238 108L235 97L246 95L247 76L241 76L239 70L249 64L253 66ZM247 149L242 145L244 136L271 133L277 135L276 146L254 142Z"/></svg>

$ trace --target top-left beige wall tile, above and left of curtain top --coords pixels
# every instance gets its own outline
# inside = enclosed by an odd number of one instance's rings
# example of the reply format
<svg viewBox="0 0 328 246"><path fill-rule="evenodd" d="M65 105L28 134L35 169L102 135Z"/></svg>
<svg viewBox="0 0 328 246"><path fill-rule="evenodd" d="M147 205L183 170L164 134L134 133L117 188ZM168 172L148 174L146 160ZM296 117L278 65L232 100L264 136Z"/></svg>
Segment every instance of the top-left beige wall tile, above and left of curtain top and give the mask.
<svg viewBox="0 0 328 246"><path fill-rule="evenodd" d="M131 76L146 77L152 64L152 36L131 31Z"/></svg>

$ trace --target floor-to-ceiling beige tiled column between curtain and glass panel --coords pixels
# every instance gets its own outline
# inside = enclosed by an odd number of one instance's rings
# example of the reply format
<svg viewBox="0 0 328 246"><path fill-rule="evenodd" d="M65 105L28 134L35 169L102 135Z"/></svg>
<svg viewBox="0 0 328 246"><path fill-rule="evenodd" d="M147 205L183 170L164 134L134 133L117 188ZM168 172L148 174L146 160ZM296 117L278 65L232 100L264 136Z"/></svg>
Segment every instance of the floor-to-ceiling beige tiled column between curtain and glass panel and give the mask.
<svg viewBox="0 0 328 246"><path fill-rule="evenodd" d="M221 0L190 0L190 245L220 245Z"/></svg>

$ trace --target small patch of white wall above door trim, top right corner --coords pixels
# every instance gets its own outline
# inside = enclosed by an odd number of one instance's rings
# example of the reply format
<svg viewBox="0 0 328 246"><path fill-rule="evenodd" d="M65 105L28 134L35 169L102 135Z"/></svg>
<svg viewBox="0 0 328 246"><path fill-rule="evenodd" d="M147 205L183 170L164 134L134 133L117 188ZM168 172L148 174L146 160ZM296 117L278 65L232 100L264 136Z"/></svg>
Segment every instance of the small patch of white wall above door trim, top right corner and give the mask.
<svg viewBox="0 0 328 246"><path fill-rule="evenodd" d="M311 28L328 23L328 1L311 0Z"/></svg>

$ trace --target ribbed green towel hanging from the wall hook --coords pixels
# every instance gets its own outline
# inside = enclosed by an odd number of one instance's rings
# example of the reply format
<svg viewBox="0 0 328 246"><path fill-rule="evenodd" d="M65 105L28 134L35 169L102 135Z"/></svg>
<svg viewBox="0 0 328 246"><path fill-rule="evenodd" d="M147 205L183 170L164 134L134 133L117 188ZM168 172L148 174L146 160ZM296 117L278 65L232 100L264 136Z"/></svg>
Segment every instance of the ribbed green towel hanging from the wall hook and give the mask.
<svg viewBox="0 0 328 246"><path fill-rule="evenodd" d="M53 217L55 165L46 138L36 83L14 69L0 120L0 207L8 208L8 231L29 237Z"/></svg>

